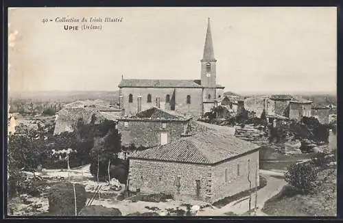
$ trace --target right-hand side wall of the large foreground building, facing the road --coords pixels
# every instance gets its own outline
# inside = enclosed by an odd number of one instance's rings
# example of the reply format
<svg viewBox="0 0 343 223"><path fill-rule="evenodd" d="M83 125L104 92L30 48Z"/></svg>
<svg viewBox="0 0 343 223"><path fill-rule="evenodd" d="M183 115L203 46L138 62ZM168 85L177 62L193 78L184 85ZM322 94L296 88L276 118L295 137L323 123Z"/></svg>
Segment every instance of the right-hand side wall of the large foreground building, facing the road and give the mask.
<svg viewBox="0 0 343 223"><path fill-rule="evenodd" d="M227 196L233 196L249 189L248 159L250 159L250 180L252 188L256 187L255 174L257 169L257 186L259 186L259 151L237 159L229 160L213 166L211 201L215 202ZM239 175L237 165L239 164ZM225 172L227 173L227 182Z"/></svg>

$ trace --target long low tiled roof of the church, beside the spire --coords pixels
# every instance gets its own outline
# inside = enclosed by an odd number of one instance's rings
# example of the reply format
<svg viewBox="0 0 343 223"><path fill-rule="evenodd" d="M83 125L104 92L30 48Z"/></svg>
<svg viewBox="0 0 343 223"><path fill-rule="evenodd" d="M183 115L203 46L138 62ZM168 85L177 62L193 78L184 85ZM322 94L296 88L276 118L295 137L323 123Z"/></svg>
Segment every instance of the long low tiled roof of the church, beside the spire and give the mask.
<svg viewBox="0 0 343 223"><path fill-rule="evenodd" d="M202 88L201 80L122 79L119 88ZM217 85L217 88L224 88Z"/></svg>

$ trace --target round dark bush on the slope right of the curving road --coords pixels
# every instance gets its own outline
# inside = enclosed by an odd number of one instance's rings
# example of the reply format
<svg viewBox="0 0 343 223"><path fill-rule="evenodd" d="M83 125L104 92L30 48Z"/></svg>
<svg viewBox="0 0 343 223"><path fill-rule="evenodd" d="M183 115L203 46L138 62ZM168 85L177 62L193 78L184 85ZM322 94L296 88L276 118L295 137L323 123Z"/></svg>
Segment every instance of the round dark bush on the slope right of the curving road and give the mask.
<svg viewBox="0 0 343 223"><path fill-rule="evenodd" d="M318 170L309 163L296 163L287 168L285 181L299 192L309 193L314 189Z"/></svg>

